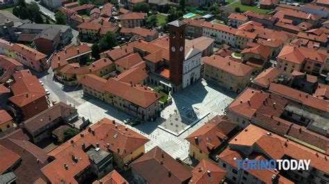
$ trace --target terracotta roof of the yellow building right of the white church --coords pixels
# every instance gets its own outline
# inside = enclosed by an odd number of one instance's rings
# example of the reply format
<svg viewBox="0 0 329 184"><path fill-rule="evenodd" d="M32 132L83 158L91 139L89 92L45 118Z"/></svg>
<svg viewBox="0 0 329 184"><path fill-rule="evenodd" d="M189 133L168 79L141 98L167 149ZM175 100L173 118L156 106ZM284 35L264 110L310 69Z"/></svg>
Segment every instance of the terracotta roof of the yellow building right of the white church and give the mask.
<svg viewBox="0 0 329 184"><path fill-rule="evenodd" d="M220 68L221 70L226 71L227 73L239 77L245 76L248 73L251 73L251 71L253 71L253 68L251 68L251 66L247 66L246 64L242 64L239 62L230 62L228 59L225 59L224 57L221 57L219 55L212 55L206 59L203 59L203 63L209 64L216 68Z"/></svg>

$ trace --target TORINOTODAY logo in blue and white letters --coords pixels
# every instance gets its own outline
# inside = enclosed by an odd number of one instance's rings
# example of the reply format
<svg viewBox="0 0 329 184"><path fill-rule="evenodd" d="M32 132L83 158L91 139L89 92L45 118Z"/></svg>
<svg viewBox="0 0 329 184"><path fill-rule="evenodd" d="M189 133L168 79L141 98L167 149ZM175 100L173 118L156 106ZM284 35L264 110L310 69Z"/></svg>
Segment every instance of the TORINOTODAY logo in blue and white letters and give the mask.
<svg viewBox="0 0 329 184"><path fill-rule="evenodd" d="M283 159L283 160L249 160L248 158L241 160L235 158L237 162L237 169L249 169L255 170L308 170L311 160L294 160L294 159ZM278 166L278 167L277 167Z"/></svg>

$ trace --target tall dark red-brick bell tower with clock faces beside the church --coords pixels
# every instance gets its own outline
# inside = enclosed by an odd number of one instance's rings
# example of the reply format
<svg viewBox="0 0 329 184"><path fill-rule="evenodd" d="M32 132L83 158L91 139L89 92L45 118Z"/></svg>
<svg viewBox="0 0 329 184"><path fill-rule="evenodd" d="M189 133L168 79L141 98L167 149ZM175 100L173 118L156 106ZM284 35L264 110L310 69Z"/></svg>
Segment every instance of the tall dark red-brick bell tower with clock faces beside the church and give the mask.
<svg viewBox="0 0 329 184"><path fill-rule="evenodd" d="M183 62L185 57L184 21L171 21L169 26L169 74L170 81L175 84L175 91L182 89Z"/></svg>

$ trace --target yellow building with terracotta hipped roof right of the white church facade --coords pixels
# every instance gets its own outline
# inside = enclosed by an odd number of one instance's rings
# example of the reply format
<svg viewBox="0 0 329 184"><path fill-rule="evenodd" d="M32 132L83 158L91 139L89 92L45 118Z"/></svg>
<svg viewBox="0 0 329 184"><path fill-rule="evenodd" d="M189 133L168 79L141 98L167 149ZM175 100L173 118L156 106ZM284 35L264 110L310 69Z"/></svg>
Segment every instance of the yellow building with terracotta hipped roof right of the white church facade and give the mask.
<svg viewBox="0 0 329 184"><path fill-rule="evenodd" d="M212 55L203 59L204 78L230 91L243 91L251 80L253 68L228 57Z"/></svg>

